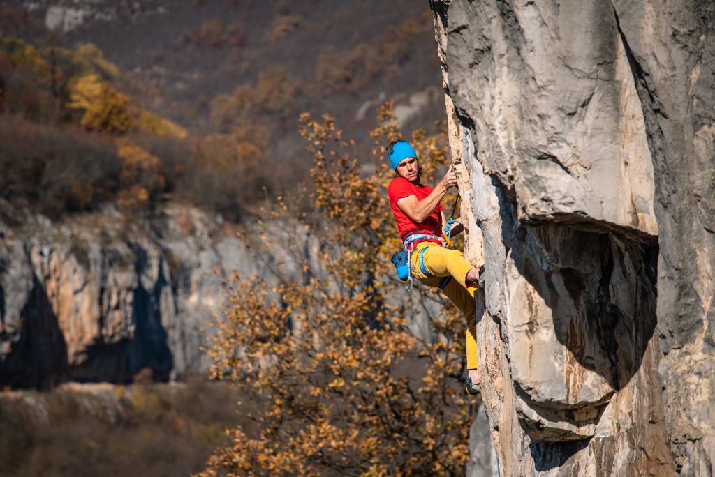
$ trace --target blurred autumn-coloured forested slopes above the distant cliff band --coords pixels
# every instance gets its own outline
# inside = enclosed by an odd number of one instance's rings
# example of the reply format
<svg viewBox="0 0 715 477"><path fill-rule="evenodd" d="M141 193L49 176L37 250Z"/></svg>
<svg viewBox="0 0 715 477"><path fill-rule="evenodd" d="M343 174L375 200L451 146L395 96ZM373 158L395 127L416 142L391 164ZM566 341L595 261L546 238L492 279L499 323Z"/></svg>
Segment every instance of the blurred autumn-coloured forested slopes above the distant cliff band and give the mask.
<svg viewBox="0 0 715 477"><path fill-rule="evenodd" d="M6 221L171 200L237 222L307 179L303 111L335 116L366 156L381 101L405 105L405 130L444 116L420 2L75 2L109 19L66 33L46 29L50 3L0 7Z"/></svg>

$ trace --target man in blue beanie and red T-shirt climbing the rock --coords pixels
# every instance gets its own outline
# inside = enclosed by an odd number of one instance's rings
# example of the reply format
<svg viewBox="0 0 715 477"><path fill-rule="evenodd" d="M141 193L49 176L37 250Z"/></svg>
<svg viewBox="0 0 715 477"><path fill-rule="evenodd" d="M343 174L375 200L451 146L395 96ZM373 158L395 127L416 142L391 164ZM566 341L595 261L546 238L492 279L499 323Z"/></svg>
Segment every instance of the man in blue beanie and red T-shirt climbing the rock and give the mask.
<svg viewBox="0 0 715 477"><path fill-rule="evenodd" d="M408 141L393 141L388 146L390 164L395 179L390 181L390 208L408 250L413 276L426 286L441 288L447 298L467 318L466 348L470 394L480 393L477 371L476 306L474 292L478 289L479 271L471 266L460 251L443 247L440 236L446 223L440 200L450 187L457 185L457 176L450 166L435 189L420 182L420 162ZM450 236L463 230L453 224Z"/></svg>

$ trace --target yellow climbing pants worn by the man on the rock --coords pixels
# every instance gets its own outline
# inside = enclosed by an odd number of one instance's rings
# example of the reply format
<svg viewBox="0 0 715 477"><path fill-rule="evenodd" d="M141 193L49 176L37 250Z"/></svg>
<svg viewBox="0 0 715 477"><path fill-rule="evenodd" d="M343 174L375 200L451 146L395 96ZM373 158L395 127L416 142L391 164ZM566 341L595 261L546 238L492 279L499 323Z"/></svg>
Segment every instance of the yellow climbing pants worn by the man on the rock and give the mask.
<svg viewBox="0 0 715 477"><path fill-rule="evenodd" d="M420 269L420 253L423 249L423 263L428 273L433 277L429 277L422 273ZM443 288L443 292L453 303L454 306L460 309L467 318L467 333L466 333L466 348L467 348L467 368L473 369L477 367L477 307L474 303L474 292L478 286L467 286L465 278L467 272L474 268L470 265L464 254L458 250L450 250L449 248L440 247L432 242L420 242L415 246L415 249L410 255L412 263L412 274L427 286L436 288L440 283L440 279L451 275L452 280Z"/></svg>

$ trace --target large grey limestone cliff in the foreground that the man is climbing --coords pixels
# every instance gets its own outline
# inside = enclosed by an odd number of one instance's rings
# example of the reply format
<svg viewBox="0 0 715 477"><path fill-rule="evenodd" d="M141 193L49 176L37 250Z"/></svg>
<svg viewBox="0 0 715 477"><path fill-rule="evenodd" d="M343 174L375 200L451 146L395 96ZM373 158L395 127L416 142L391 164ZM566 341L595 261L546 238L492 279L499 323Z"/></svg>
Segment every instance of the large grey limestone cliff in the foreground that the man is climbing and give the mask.
<svg viewBox="0 0 715 477"><path fill-rule="evenodd" d="M503 475L711 475L715 6L430 4Z"/></svg>

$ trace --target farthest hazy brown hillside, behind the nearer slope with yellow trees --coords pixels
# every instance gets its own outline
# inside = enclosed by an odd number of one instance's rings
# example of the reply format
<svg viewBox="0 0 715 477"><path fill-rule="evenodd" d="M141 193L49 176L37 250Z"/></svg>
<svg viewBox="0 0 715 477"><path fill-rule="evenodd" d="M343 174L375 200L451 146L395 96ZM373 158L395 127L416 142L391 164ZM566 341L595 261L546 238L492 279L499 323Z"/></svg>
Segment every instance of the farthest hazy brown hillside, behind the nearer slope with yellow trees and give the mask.
<svg viewBox="0 0 715 477"><path fill-rule="evenodd" d="M261 76L274 103L253 111L262 126L278 123L281 154L300 150L295 121L302 111L337 116L346 130L365 133L375 107L394 99L411 119L429 126L443 119L439 69L425 4L399 0L310 1L14 0L44 22L61 44L96 44L110 61L132 72L144 88L142 104L192 132L218 132L218 103ZM250 101L260 103L260 91ZM414 97L414 95L418 95ZM421 97L422 96L425 97ZM365 114L369 112L370 114ZM264 121L270 119L270 121ZM240 118L233 118L232 122ZM268 123L268 124L265 124Z"/></svg>

